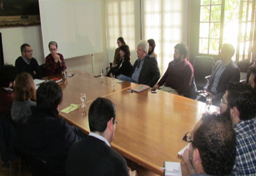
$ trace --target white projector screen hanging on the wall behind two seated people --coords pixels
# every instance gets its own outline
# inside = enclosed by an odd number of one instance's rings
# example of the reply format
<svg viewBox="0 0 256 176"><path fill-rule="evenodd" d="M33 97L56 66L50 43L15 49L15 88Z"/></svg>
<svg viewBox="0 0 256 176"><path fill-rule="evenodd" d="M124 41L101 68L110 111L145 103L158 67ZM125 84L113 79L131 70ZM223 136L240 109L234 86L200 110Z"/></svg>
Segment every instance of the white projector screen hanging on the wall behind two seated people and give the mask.
<svg viewBox="0 0 256 176"><path fill-rule="evenodd" d="M39 0L44 57L49 41L65 59L103 52L100 1Z"/></svg>

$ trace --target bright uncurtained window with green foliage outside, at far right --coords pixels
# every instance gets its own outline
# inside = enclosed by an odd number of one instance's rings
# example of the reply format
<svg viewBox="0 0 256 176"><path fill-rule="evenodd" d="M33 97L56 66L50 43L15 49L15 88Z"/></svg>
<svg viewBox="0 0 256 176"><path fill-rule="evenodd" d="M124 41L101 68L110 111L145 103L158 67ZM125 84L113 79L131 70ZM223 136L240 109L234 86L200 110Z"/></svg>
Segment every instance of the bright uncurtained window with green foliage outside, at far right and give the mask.
<svg viewBox="0 0 256 176"><path fill-rule="evenodd" d="M255 0L201 0L199 53L218 55L223 43L236 48L234 61L250 59Z"/></svg>

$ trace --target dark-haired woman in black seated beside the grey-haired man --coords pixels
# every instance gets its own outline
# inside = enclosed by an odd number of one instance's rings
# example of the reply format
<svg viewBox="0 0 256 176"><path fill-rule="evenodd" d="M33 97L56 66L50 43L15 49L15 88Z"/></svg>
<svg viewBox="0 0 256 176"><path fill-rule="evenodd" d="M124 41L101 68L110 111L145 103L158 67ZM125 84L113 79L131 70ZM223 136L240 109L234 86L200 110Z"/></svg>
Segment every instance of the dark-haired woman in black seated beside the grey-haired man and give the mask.
<svg viewBox="0 0 256 176"><path fill-rule="evenodd" d="M111 67L109 72L107 73L107 76L111 77L111 75L115 75L115 77L118 77L118 75L125 75L129 77L131 75L131 71L133 69L133 66L131 65L131 53L129 50L129 46L122 45L119 48L119 54L121 60L119 61L117 66Z"/></svg>

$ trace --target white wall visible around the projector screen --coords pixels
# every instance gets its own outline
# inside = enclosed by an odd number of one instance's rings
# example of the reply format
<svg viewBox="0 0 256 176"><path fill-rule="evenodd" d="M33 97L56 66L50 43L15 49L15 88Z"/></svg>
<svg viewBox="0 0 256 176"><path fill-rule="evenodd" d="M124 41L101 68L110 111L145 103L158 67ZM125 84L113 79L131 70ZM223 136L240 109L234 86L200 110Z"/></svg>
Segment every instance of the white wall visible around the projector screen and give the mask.
<svg viewBox="0 0 256 176"><path fill-rule="evenodd" d="M103 52L94 55L94 72L100 73L100 70L106 72L108 66L107 49L106 49L106 26L105 26L105 2L100 0L102 7L102 35L103 35ZM33 48L33 57L39 64L45 62L44 50L42 44L41 26L0 28L3 40L3 58L4 63L15 65L15 60L21 55L20 46L28 43ZM61 48L59 48L61 50ZM64 56L65 57L65 56ZM91 55L65 59L67 70L83 70L91 72Z"/></svg>

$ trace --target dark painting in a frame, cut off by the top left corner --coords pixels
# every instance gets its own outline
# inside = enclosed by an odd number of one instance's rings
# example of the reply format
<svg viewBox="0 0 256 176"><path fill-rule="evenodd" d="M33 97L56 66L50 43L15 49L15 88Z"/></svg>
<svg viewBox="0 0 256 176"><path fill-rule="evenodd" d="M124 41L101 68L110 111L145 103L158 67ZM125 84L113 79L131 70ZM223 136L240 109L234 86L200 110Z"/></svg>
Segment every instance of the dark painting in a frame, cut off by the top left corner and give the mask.
<svg viewBox="0 0 256 176"><path fill-rule="evenodd" d="M38 0L0 0L0 28L39 24Z"/></svg>

